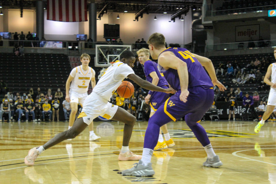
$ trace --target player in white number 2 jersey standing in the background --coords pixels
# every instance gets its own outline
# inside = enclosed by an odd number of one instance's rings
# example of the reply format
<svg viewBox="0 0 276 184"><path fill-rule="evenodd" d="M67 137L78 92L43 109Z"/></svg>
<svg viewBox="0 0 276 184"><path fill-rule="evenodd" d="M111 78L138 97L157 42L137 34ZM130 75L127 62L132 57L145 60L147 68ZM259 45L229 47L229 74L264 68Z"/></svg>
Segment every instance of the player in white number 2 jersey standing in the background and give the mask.
<svg viewBox="0 0 276 184"><path fill-rule="evenodd" d="M93 89L96 86L95 71L88 66L90 62L90 56L84 53L81 55L80 61L82 65L73 68L66 81L65 100L70 102L71 106L68 129L70 129L74 124L75 116L78 111L78 104L82 106L85 98L88 96L87 91L90 81ZM101 137L94 133L93 128L94 127L92 122L89 125L89 140L95 141L101 139Z"/></svg>

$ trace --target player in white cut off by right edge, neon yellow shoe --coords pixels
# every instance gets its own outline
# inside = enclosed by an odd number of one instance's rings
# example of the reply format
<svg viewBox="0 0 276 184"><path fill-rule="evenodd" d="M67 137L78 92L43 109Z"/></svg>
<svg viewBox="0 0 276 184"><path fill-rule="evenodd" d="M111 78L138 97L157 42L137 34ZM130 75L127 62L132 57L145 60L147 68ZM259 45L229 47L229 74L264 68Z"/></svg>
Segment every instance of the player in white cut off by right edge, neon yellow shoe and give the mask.
<svg viewBox="0 0 276 184"><path fill-rule="evenodd" d="M274 58L276 59L276 48L274 48L273 54ZM271 77L271 81L269 80L269 77ZM262 120L259 121L258 125L255 126L254 131L256 133L258 133L261 130L261 127L264 125L264 122L267 120L267 118L269 118L270 114L273 112L276 106L276 63L272 63L269 65L263 82L270 85L270 91L267 100L266 112L263 113Z"/></svg>

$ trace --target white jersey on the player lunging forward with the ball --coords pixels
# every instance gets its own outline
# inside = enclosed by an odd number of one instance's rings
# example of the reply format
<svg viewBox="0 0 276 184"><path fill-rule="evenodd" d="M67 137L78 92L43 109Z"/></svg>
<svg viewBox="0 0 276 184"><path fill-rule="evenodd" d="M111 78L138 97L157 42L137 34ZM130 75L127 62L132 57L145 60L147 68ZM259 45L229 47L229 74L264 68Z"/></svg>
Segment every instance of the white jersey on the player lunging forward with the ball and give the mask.
<svg viewBox="0 0 276 184"><path fill-rule="evenodd" d="M121 61L116 61L105 70L97 85L94 87L93 93L109 101L122 81L129 74L134 74L132 68Z"/></svg>

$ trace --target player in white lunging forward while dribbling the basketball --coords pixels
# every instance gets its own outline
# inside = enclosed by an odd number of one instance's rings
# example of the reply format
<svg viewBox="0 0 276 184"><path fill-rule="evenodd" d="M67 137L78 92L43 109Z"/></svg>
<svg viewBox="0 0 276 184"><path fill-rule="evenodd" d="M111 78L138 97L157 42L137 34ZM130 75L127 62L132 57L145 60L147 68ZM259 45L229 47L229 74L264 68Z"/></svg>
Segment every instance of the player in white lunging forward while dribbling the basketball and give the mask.
<svg viewBox="0 0 276 184"><path fill-rule="evenodd" d="M118 159L121 161L141 159L142 155L134 155L128 148L132 128L135 124L136 118L125 109L111 104L109 102L110 97L125 78L129 78L139 86L152 91L175 93L175 90L172 88L163 89L135 75L132 70L134 62L135 55L131 51L125 50L122 52L120 55L120 61L113 63L106 69L93 92L85 99L82 112L79 114L73 127L57 134L43 146L30 149L28 155L25 157L25 164L27 166L32 166L36 157L45 149L48 149L63 140L75 138L75 136L79 135L79 133L90 125L92 120L98 116L125 123L123 145Z"/></svg>

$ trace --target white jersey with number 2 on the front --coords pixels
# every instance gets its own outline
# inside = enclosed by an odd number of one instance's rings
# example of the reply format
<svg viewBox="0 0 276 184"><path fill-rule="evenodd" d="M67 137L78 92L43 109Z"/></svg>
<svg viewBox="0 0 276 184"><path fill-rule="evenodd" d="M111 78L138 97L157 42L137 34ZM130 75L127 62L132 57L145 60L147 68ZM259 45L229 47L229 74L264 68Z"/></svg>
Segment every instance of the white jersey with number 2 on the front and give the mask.
<svg viewBox="0 0 276 184"><path fill-rule="evenodd" d="M88 70L84 71L81 65L73 68L70 75L74 77L70 85L70 91L87 93L89 83L95 77L95 71L91 67L88 67Z"/></svg>

